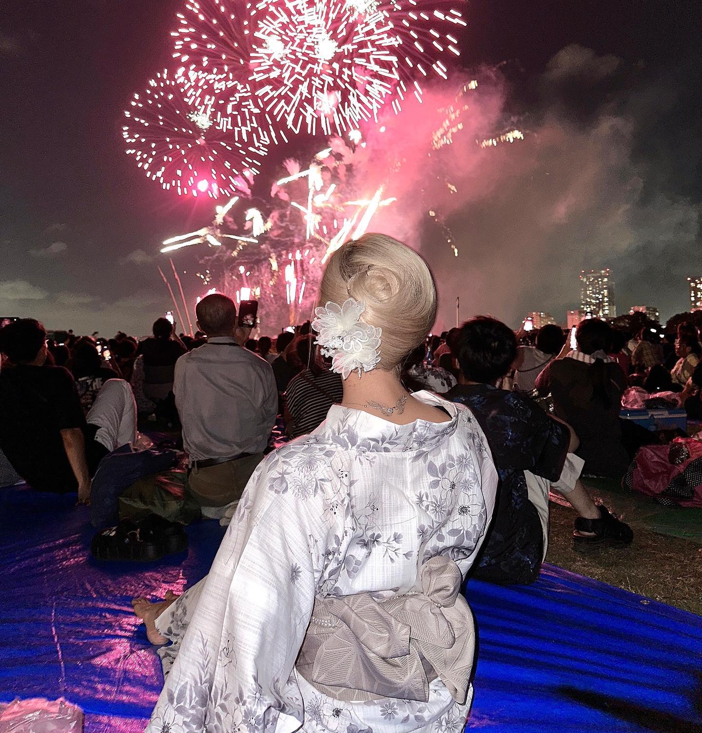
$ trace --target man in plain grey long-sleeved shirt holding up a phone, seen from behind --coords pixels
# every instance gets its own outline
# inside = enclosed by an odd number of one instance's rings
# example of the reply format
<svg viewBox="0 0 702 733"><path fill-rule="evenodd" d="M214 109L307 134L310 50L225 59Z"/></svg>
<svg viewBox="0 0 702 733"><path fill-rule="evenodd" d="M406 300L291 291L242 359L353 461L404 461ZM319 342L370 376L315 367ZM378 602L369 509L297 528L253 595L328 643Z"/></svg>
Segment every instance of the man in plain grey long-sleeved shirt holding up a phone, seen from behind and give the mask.
<svg viewBox="0 0 702 733"><path fill-rule="evenodd" d="M226 507L263 458L278 391L270 364L240 346L248 333L237 329L231 298L207 295L196 315L207 344L178 359L173 391L190 457L189 490L201 507Z"/></svg>

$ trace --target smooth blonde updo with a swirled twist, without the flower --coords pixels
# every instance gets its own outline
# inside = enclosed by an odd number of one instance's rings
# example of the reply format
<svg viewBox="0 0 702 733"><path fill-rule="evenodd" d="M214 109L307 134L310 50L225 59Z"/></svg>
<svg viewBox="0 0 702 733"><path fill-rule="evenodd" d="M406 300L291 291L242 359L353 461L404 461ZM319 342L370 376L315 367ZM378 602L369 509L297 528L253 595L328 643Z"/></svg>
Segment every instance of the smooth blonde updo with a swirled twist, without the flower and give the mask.
<svg viewBox="0 0 702 733"><path fill-rule="evenodd" d="M366 234L330 257L319 287L319 305L365 301L363 323L382 328L380 363L390 372L426 338L436 318L436 286L413 249L384 234Z"/></svg>

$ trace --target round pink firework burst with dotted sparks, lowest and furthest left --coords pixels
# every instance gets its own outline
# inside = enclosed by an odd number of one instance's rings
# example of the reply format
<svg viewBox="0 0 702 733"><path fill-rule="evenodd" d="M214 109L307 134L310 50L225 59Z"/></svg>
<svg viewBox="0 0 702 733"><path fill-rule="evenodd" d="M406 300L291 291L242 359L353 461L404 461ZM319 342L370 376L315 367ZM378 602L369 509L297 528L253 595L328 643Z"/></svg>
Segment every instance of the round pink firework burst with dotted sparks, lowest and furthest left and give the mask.
<svg viewBox="0 0 702 733"><path fill-rule="evenodd" d="M250 102L248 87L233 79L205 89L164 70L125 111L127 153L166 191L233 196L266 152L249 136L256 125L242 111Z"/></svg>

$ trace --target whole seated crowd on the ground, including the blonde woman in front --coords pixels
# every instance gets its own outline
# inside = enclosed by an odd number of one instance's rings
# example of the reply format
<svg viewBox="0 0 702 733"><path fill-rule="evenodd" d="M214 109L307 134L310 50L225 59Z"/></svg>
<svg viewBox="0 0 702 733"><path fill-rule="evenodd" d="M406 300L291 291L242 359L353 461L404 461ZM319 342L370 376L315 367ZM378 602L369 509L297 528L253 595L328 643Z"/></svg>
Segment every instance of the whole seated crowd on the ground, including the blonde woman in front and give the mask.
<svg viewBox="0 0 702 733"><path fill-rule="evenodd" d="M550 490L577 512L580 548L629 545L631 528L580 480L621 478L659 441L620 419L625 391L677 395L702 415L690 326L673 348L596 319L573 344L558 326L515 334L489 316L432 335L432 275L384 235L330 258L311 323L254 339L221 294L196 317L192 338L166 318L141 341L47 334L32 319L0 331L7 468L89 503L100 461L134 445L138 424L163 421L182 436L188 500L230 523L207 578L133 604L149 639L171 642L154 732L176 719L201 731L215 715L234 727L243 714L250 731L275 719L333 733L465 721L474 644L462 580L538 577ZM387 647L383 629L437 614L454 625L448 652L411 629L392 664L369 652L369 625ZM344 728L319 712L338 701ZM394 720L399 704L423 706L419 728Z"/></svg>

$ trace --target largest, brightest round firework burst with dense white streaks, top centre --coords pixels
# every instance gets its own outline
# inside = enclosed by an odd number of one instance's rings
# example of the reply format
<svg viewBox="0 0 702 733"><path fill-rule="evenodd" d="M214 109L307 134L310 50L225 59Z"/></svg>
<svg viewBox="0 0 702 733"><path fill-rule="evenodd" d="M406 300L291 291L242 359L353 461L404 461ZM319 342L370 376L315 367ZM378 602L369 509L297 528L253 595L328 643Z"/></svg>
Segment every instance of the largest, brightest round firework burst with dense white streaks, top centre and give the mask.
<svg viewBox="0 0 702 733"><path fill-rule="evenodd" d="M383 12L349 0L260 3L251 16L251 86L287 127L355 129L402 97L396 35Z"/></svg>

